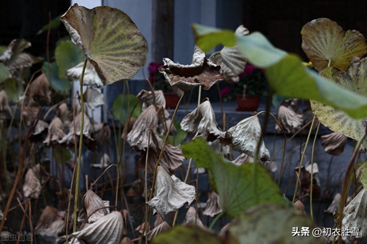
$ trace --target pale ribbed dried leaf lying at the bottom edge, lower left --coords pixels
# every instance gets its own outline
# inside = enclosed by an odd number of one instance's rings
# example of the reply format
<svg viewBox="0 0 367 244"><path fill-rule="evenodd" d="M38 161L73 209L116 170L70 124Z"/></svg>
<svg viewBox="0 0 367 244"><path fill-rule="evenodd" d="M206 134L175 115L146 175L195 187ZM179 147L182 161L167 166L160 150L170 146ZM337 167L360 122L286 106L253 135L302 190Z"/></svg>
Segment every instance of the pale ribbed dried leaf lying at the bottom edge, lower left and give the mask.
<svg viewBox="0 0 367 244"><path fill-rule="evenodd" d="M88 244L112 244L120 242L122 231L122 214L119 211L113 211L72 235L79 241L84 241L84 243Z"/></svg>

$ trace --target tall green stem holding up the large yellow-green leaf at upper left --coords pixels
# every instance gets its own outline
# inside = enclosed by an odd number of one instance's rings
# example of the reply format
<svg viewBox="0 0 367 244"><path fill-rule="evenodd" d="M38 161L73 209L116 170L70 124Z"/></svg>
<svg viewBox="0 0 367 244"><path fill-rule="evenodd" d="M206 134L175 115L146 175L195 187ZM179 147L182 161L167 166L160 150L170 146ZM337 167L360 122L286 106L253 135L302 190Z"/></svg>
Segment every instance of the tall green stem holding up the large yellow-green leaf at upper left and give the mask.
<svg viewBox="0 0 367 244"><path fill-rule="evenodd" d="M81 148L83 146L83 131L84 131L83 79L84 79L84 71L86 71L87 61L88 61L87 59L84 60L83 70L81 71L81 76L80 76L81 121L80 121L78 166L77 166L77 170L76 170L76 180L75 180L73 232L76 232L76 219L77 219L77 207L78 207L78 189L79 189L79 176L80 176L80 165L81 165ZM67 228L67 226L66 226L66 228Z"/></svg>

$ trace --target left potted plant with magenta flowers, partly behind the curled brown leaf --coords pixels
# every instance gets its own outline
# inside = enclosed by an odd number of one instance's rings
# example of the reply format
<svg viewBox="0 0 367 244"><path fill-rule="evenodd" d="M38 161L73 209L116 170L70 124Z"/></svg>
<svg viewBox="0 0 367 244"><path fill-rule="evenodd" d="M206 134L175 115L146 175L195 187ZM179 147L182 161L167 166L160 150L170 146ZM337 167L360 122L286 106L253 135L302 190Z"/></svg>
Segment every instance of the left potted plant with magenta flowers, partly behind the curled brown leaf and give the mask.
<svg viewBox="0 0 367 244"><path fill-rule="evenodd" d="M174 109L179 101L179 96L172 92L171 86L164 79L163 74L158 71L158 67L162 66L161 63L151 62L148 67L149 81L155 90L162 90L164 98L166 99L166 108Z"/></svg>

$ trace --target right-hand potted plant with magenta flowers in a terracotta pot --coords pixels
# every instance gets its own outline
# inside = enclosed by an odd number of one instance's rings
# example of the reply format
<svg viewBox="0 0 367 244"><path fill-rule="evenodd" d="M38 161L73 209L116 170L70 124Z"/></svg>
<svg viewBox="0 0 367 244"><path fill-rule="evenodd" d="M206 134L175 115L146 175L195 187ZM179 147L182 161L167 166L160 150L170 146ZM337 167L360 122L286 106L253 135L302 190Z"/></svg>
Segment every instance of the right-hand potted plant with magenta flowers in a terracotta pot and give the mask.
<svg viewBox="0 0 367 244"><path fill-rule="evenodd" d="M247 64L233 92L237 98L237 111L255 111L259 107L260 97L267 94L266 78L262 69Z"/></svg>

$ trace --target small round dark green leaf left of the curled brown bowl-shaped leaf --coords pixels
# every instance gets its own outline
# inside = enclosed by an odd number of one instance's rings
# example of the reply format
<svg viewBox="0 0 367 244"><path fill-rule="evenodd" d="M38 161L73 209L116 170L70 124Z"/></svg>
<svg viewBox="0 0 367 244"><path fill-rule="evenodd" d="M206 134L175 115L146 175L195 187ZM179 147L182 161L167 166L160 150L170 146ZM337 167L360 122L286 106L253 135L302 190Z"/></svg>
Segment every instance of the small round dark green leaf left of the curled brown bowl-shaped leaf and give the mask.
<svg viewBox="0 0 367 244"><path fill-rule="evenodd" d="M127 114L127 101L129 100L129 114ZM138 102L138 105L135 107L135 104ZM128 117L130 117L130 114L132 112L132 109L134 109L134 112L132 113L132 117L135 119L139 116L141 112L141 106L139 99L135 97L134 95L124 95L120 94L115 101L113 101L112 105L112 112L113 115L120 120L121 124L125 124Z"/></svg>

